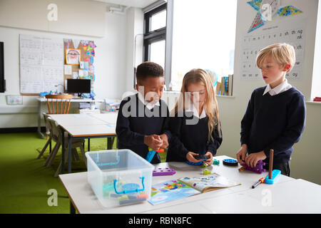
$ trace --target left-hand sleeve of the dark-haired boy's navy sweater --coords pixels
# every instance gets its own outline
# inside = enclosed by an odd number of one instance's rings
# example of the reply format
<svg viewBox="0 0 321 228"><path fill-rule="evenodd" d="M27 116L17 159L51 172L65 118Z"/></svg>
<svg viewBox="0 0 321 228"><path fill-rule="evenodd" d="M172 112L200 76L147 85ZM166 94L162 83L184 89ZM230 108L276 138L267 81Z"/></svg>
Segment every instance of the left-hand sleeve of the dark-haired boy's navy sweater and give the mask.
<svg viewBox="0 0 321 228"><path fill-rule="evenodd" d="M130 128L131 113L131 100L121 101L121 105L118 110L118 117L116 123L116 134L119 141L124 145L142 145L144 143L144 135L133 132ZM125 113L125 115L124 115Z"/></svg>

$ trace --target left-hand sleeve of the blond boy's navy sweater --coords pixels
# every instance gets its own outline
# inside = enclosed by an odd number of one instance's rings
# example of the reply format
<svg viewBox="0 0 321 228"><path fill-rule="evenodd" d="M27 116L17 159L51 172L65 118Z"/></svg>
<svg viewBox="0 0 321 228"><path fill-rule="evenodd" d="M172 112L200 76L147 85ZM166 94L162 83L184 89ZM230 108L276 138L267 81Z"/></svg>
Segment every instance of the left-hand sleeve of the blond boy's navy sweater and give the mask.
<svg viewBox="0 0 321 228"><path fill-rule="evenodd" d="M240 142L241 145L248 145L250 138L250 129L253 122L253 110L254 110L254 99L255 99L255 91L253 91L251 98L248 102L248 108L245 111L243 119L241 120L241 131L240 131Z"/></svg>

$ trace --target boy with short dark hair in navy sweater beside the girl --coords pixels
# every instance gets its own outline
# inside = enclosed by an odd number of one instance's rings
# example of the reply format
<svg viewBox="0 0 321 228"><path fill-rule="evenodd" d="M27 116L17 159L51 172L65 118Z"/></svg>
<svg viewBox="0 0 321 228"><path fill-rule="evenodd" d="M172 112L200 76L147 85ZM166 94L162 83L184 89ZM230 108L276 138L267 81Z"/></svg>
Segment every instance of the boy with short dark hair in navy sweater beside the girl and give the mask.
<svg viewBox="0 0 321 228"><path fill-rule="evenodd" d="M163 68L157 63L144 62L137 67L138 93L121 101L116 133L118 149L130 149L146 158L148 147L157 151L168 147L168 107L161 96L164 87ZM158 153L151 163L161 162Z"/></svg>

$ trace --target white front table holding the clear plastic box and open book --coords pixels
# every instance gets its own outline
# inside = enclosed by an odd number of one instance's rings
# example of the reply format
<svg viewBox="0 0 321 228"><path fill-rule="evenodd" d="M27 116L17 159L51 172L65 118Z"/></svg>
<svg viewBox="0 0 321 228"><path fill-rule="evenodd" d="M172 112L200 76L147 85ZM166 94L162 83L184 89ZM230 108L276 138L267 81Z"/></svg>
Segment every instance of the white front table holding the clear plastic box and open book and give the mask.
<svg viewBox="0 0 321 228"><path fill-rule="evenodd" d="M253 190L251 186L254 182L260 177L265 177L267 172L261 175L247 170L239 172L240 165L238 167L223 165L222 161L225 158L229 157L215 157L216 160L220 160L220 165L212 165L207 169L231 180L237 180L241 185L157 205L143 202L122 207L103 207L87 182L87 172L59 175L59 179L68 192L73 213L76 211L88 214L321 213L320 185L281 175L275 185L263 184ZM152 185L203 174L202 167L188 165L185 162L160 163L156 167L172 167L176 173L172 176L153 177ZM267 197L271 197L270 201L265 202Z"/></svg>

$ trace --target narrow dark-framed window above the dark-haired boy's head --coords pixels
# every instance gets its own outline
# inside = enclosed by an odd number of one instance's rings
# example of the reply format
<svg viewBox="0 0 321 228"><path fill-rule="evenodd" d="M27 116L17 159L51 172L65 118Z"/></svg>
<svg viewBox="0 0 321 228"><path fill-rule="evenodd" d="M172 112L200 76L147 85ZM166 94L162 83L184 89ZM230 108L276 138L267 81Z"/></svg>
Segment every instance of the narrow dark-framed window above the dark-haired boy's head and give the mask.
<svg viewBox="0 0 321 228"><path fill-rule="evenodd" d="M152 61L165 69L165 39L167 4L144 14L143 60Z"/></svg>

